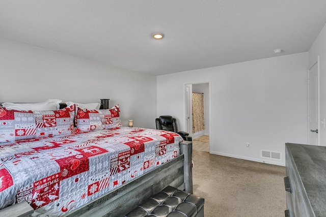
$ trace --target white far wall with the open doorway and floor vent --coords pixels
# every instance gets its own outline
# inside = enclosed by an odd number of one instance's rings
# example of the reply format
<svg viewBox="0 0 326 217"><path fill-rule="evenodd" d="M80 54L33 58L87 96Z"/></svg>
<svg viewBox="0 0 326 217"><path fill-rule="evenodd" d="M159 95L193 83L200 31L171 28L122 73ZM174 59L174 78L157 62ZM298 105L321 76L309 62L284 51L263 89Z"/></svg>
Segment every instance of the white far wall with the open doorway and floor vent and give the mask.
<svg viewBox="0 0 326 217"><path fill-rule="evenodd" d="M184 85L210 81L210 152L285 165L284 144L307 143L307 66L305 52L157 76L157 114L185 130Z"/></svg>

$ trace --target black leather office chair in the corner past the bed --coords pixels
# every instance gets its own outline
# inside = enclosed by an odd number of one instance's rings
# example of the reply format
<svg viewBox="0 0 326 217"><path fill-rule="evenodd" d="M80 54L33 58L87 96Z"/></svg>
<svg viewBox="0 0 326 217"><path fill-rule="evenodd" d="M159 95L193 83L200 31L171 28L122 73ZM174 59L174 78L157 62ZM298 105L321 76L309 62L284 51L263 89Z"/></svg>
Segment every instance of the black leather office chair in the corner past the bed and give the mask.
<svg viewBox="0 0 326 217"><path fill-rule="evenodd" d="M185 141L193 141L193 138L189 136L187 132L178 131L177 119L170 115L161 115L155 118L156 129L172 131L179 134Z"/></svg>

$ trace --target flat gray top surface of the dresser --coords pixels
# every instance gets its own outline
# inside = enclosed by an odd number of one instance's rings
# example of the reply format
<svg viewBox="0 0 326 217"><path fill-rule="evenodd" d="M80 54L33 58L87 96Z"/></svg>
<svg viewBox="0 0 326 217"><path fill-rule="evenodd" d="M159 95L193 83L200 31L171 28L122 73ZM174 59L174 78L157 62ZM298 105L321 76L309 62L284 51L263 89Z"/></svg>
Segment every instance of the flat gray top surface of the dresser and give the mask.
<svg viewBox="0 0 326 217"><path fill-rule="evenodd" d="M316 216L326 216L326 147L285 144Z"/></svg>

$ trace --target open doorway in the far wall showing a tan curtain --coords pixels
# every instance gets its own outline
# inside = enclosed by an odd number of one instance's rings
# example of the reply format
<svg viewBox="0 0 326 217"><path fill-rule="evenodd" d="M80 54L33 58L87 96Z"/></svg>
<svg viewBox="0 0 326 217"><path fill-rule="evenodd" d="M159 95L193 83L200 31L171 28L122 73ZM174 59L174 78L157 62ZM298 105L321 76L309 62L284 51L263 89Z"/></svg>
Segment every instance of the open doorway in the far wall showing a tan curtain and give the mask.
<svg viewBox="0 0 326 217"><path fill-rule="evenodd" d="M198 119L193 120L193 93L200 93L203 96L203 122L204 129L195 132ZM197 117L198 118L198 117ZM193 137L193 149L208 151L210 146L210 82L185 84L185 126L186 131Z"/></svg>

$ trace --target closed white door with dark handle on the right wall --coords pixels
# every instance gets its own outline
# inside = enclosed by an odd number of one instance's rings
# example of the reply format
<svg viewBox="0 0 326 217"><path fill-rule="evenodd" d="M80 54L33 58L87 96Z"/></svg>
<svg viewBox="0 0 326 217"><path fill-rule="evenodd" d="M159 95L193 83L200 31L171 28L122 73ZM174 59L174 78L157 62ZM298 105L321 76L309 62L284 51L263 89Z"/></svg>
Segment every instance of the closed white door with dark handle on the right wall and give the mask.
<svg viewBox="0 0 326 217"><path fill-rule="evenodd" d="M319 145L319 72L318 61L309 69L309 144Z"/></svg>

